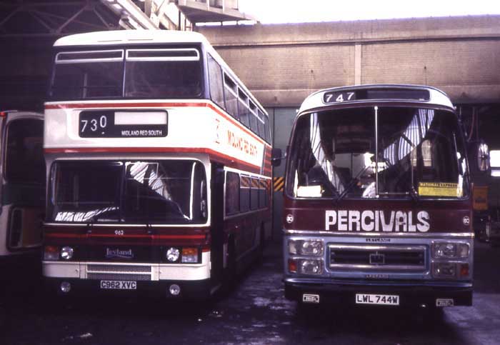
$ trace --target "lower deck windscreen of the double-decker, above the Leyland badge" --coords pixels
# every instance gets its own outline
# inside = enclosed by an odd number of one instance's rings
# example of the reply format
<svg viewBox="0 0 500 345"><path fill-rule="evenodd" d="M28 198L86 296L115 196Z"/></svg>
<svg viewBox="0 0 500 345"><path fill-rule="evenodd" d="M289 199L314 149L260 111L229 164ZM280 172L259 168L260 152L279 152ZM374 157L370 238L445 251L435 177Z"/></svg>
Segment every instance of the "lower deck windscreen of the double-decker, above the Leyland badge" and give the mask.
<svg viewBox="0 0 500 345"><path fill-rule="evenodd" d="M48 221L205 224L203 164L189 160L60 161Z"/></svg>

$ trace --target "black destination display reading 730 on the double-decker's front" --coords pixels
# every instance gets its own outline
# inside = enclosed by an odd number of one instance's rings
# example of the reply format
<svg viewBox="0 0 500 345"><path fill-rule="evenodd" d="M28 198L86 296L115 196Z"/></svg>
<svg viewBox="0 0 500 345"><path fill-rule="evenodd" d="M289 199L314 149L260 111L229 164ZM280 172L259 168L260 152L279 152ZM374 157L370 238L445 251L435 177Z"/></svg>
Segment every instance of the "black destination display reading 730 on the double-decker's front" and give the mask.
<svg viewBox="0 0 500 345"><path fill-rule="evenodd" d="M81 111L81 138L151 138L167 135L166 111Z"/></svg>

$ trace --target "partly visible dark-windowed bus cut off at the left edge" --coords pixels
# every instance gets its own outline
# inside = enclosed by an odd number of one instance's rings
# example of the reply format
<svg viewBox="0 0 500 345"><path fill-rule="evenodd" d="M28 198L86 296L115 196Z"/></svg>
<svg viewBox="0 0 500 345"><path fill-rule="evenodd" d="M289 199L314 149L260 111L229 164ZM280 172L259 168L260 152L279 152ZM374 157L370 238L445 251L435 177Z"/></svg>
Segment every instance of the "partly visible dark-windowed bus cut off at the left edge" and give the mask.
<svg viewBox="0 0 500 345"><path fill-rule="evenodd" d="M31 111L0 111L0 271L10 282L40 275L43 119Z"/></svg>

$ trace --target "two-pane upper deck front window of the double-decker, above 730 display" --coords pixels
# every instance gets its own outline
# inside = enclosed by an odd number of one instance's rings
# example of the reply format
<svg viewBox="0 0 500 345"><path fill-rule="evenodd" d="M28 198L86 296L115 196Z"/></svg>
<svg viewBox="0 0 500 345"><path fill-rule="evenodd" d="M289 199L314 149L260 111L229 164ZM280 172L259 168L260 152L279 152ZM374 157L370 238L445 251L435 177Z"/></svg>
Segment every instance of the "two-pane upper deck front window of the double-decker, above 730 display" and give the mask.
<svg viewBox="0 0 500 345"><path fill-rule="evenodd" d="M80 99L199 98L198 49L115 49L56 54L49 96Z"/></svg>

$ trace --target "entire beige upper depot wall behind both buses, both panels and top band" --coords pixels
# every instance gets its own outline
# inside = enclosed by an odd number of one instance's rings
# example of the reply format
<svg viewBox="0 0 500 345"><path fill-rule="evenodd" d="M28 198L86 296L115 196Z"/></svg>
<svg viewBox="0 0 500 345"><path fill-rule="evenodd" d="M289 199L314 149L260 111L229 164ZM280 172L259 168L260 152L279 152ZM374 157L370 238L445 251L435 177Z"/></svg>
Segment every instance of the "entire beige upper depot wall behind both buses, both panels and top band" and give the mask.
<svg viewBox="0 0 500 345"><path fill-rule="evenodd" d="M500 16L200 27L264 106L312 91L427 84L457 103L500 96Z"/></svg>

